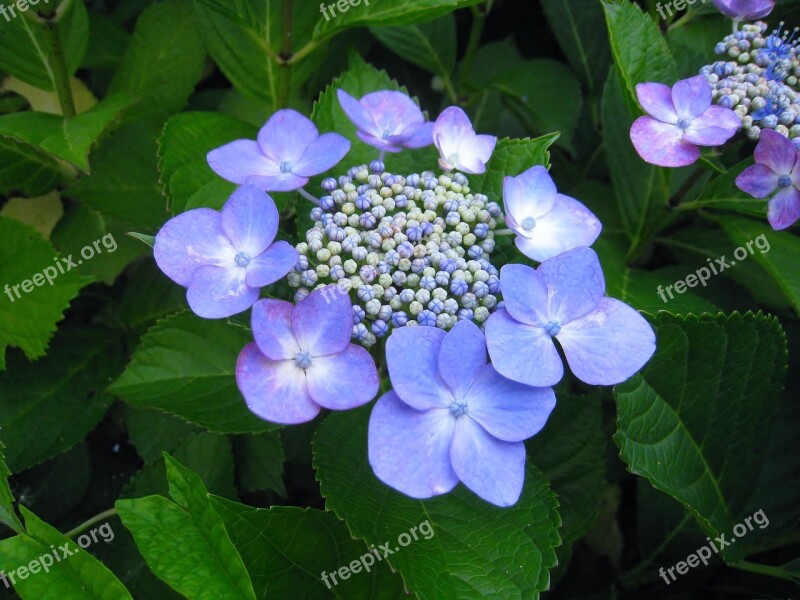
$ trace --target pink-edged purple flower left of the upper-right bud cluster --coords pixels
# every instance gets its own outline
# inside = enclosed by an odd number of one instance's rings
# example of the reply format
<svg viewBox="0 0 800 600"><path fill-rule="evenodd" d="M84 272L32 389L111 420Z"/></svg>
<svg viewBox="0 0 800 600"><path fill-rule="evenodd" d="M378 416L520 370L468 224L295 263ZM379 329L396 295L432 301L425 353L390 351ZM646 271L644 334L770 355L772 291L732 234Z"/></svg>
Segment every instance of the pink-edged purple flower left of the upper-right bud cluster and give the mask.
<svg viewBox="0 0 800 600"><path fill-rule="evenodd" d="M698 146L720 146L742 120L729 108L711 105L711 86L702 75L670 88L661 83L636 86L639 104L650 116L631 126L631 141L644 160L661 167L685 167L700 158Z"/></svg>

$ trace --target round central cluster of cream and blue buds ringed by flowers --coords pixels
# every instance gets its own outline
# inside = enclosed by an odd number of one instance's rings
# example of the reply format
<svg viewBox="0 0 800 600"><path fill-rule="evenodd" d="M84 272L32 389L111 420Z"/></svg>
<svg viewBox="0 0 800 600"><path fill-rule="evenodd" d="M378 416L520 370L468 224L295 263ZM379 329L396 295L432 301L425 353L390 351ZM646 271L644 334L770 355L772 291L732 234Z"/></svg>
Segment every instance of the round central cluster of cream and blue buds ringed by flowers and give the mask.
<svg viewBox="0 0 800 600"><path fill-rule="evenodd" d="M353 341L369 347L406 325L482 323L497 307L489 259L502 210L472 194L462 173L395 175L374 160L322 188L287 279L296 302L331 283L326 294L348 294Z"/></svg>

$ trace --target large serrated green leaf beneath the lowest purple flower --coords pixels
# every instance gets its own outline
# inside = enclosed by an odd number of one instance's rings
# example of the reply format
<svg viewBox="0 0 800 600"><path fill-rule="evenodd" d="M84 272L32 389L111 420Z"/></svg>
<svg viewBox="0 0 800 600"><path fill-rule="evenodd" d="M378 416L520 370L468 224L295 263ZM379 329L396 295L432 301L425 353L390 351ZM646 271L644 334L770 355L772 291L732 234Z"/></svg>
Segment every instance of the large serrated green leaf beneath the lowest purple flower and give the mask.
<svg viewBox="0 0 800 600"><path fill-rule="evenodd" d="M555 565L560 518L544 476L528 466L517 504L498 508L459 486L430 500L414 500L380 482L367 459L371 406L332 413L314 441L314 467L326 507L353 535L389 543L424 522L430 539L417 539L386 558L421 599L536 598Z"/></svg>

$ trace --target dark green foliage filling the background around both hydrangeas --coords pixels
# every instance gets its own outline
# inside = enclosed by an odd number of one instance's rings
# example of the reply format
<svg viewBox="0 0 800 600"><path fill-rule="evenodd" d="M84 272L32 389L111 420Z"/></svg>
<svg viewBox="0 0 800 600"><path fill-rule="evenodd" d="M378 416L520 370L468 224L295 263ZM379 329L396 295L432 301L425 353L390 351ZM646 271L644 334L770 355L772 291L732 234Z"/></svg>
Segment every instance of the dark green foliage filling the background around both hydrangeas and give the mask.
<svg viewBox="0 0 800 600"><path fill-rule="evenodd" d="M713 168L699 176L636 156L633 86L696 73L730 28L710 3L671 23L655 4L372 0L326 22L315 3L294 2L288 40L271 0L75 0L58 24L0 20L2 283L108 233L119 244L53 286L0 298L0 568L119 512L114 541L90 549L106 568L83 556L22 582L19 595L125 597L120 586L136 598L796 594L800 242L771 231L763 202L733 185L752 144L704 157ZM781 18L796 23L800 3L779 0L770 22ZM290 56L289 75L279 63ZM502 175L552 165L560 190L603 221L595 247L609 295L657 329L656 356L625 384L559 384L550 422L528 442L513 508L463 489L411 501L380 484L366 462L367 408L292 428L255 418L233 378L246 317L188 313L147 245L125 235L219 208L233 186L211 173L206 152L254 137L280 106L355 139L337 86L402 86L432 117L458 103L479 132L534 138L501 140L473 189L497 200ZM355 143L341 170L373 155ZM387 164L434 161L425 149ZM283 234L302 234L305 205L274 196ZM769 253L669 304L658 297L658 285L762 234ZM669 587L659 578L659 566L759 509L769 527L724 560ZM316 577L425 519L436 537L403 549L391 569L332 591Z"/></svg>

